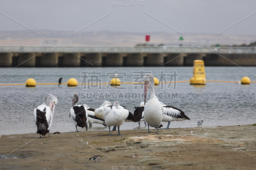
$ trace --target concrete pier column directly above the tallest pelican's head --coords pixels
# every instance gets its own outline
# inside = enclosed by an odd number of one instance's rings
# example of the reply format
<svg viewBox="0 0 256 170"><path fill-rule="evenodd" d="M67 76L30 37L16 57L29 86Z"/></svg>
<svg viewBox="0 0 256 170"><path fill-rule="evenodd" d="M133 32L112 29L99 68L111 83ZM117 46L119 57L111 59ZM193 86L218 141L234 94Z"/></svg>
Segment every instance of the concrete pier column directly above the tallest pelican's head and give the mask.
<svg viewBox="0 0 256 170"><path fill-rule="evenodd" d="M162 66L164 64L164 55L160 53L148 54L144 66Z"/></svg>

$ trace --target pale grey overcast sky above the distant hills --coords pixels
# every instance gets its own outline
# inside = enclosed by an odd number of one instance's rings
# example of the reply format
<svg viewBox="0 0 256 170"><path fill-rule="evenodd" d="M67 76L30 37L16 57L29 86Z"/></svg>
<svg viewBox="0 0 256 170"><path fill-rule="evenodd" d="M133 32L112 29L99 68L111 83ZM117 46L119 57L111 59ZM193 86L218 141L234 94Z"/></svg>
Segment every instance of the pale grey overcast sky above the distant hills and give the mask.
<svg viewBox="0 0 256 170"><path fill-rule="evenodd" d="M1 0L0 12L38 33L40 30L75 33L113 11L83 31L217 34L256 11L255 0L136 0L135 4L132 1L135 0L117 0L115 6L114 0ZM1 31L27 29L2 13ZM256 13L221 34L255 35L255 31Z"/></svg>

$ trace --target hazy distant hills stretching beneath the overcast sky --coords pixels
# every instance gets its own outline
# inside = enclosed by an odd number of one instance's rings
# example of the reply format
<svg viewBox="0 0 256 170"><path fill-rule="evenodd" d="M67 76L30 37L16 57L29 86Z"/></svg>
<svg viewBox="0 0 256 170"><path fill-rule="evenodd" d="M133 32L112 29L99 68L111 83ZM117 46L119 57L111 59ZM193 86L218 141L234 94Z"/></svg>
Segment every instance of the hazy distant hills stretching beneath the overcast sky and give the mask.
<svg viewBox="0 0 256 170"><path fill-rule="evenodd" d="M70 36L74 32L71 31L54 31L54 30L36 30L42 36L33 33L32 31L0 31L0 45L39 45L39 41L72 41L72 45L136 45L145 43L145 35L150 35L148 44L152 45L180 45L180 34L165 33L165 32L146 32L146 33L132 33L132 32L85 32ZM183 35L182 35L183 36ZM256 35L228 35L220 34L214 36L213 34L189 34L183 36L183 41L215 41L216 44L226 44L232 46L234 44L248 44L248 46L255 46Z"/></svg>

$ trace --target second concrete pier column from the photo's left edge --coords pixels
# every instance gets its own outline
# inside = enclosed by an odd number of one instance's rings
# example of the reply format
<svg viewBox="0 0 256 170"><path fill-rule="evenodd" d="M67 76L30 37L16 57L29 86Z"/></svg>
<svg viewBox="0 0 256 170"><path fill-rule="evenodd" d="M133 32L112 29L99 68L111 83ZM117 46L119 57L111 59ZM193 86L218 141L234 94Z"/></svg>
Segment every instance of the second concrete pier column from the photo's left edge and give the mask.
<svg viewBox="0 0 256 170"><path fill-rule="evenodd" d="M23 53L18 57L18 65L20 67L35 67L36 55L35 53Z"/></svg>

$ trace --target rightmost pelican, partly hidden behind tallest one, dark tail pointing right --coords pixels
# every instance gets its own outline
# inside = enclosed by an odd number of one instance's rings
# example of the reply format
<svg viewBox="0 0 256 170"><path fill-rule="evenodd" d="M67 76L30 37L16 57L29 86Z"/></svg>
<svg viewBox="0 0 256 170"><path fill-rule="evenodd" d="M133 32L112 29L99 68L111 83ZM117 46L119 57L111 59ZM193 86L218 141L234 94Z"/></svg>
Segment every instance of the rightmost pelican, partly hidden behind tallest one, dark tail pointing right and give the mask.
<svg viewBox="0 0 256 170"><path fill-rule="evenodd" d="M170 125L171 121L184 121L186 119L190 120L188 118L188 116L186 116L182 110L180 110L176 107L167 106L162 102L160 102L160 103L164 107L164 112L163 112L164 114L163 114L162 122L168 122L167 127L164 129L169 129L169 125Z"/></svg>

